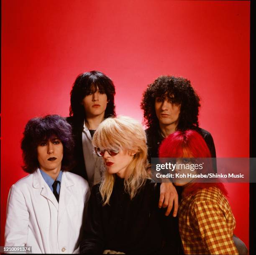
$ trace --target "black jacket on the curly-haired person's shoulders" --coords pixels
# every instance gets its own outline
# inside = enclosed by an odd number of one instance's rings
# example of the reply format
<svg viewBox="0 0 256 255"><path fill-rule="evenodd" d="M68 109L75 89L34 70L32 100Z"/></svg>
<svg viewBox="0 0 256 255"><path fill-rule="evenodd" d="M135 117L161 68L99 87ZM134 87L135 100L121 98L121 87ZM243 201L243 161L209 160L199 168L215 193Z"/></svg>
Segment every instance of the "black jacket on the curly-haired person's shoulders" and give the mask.
<svg viewBox="0 0 256 255"><path fill-rule="evenodd" d="M160 132L154 131L152 128L148 128L145 130L147 135L147 145L148 145L148 162L151 163L151 158L158 158L158 150L161 142L164 140L164 137L160 134ZM205 139L205 142L210 150L212 158L216 158L215 145L212 139L212 135L200 128L196 127L195 131L200 133L202 137Z"/></svg>

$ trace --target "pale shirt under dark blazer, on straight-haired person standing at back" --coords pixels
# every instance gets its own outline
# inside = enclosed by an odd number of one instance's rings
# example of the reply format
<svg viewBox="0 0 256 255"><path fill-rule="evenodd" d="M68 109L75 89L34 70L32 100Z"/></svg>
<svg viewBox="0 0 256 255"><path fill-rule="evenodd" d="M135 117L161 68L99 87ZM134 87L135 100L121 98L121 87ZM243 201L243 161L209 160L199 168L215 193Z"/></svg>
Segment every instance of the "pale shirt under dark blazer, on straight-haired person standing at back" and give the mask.
<svg viewBox="0 0 256 255"><path fill-rule="evenodd" d="M101 168L103 167L102 158L98 157L95 153L95 149L92 146L92 136L88 127L84 122L84 129L82 132L82 143L84 153L84 164L88 177L88 184L90 188L93 185L100 182L101 179Z"/></svg>

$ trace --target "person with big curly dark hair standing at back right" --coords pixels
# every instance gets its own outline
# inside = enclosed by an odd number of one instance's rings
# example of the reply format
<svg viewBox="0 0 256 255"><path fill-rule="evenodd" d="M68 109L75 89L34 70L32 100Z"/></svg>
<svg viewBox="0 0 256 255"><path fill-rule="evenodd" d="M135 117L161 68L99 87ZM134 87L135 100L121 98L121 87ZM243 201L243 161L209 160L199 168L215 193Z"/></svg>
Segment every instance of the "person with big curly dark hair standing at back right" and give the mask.
<svg viewBox="0 0 256 255"><path fill-rule="evenodd" d="M204 138L211 156L216 157L212 135L199 127L198 110L200 99L189 80L182 77L159 76L152 84L148 84L143 94L141 109L144 111L144 122L148 145L148 161L158 157L161 142L176 130L196 130ZM170 196L162 196L159 207L169 207L173 215L178 210L178 194L172 183L163 183L161 193L169 192Z"/></svg>

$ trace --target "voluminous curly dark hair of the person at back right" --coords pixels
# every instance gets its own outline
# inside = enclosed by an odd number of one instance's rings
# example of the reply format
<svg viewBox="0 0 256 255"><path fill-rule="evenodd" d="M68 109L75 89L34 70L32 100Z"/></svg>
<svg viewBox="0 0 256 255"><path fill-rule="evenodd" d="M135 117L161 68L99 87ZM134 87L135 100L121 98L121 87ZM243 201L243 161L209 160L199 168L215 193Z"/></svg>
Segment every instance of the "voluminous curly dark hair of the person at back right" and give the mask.
<svg viewBox="0 0 256 255"><path fill-rule="evenodd" d="M174 104L181 104L177 130L187 130L198 127L198 109L200 99L190 81L182 77L160 76L143 94L141 109L144 111L144 123L152 130L159 129L159 120L155 111L156 97L167 97Z"/></svg>

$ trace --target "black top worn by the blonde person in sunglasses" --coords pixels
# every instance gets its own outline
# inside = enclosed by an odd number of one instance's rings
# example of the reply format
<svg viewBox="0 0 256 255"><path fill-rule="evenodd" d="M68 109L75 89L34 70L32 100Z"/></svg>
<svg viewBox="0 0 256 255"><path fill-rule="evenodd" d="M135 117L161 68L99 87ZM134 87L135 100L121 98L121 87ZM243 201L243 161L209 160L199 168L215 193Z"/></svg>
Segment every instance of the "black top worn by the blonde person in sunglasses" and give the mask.
<svg viewBox="0 0 256 255"><path fill-rule="evenodd" d="M102 206L100 184L92 188L80 253L102 254L115 250L125 254L177 254L177 217L164 216L158 208L160 184L146 184L131 200L123 179L116 176L110 205Z"/></svg>

